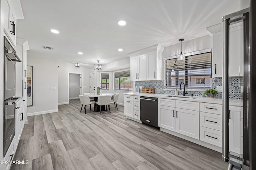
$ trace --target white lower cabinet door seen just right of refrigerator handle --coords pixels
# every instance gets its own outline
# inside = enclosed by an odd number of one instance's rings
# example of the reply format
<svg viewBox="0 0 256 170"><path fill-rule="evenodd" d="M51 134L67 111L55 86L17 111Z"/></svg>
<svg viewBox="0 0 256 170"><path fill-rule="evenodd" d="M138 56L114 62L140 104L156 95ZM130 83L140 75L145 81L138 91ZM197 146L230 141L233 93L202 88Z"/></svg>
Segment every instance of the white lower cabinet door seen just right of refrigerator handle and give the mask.
<svg viewBox="0 0 256 170"><path fill-rule="evenodd" d="M229 150L241 154L241 107L230 106Z"/></svg>

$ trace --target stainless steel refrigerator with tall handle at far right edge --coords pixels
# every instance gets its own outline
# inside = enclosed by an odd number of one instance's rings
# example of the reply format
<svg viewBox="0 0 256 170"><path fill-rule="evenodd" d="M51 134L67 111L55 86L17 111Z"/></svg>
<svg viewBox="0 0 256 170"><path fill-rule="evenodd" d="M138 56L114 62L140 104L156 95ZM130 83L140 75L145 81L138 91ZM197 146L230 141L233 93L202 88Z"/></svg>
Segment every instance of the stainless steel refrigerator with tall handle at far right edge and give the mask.
<svg viewBox="0 0 256 170"><path fill-rule="evenodd" d="M222 18L223 23L223 66L222 66L222 86L223 86L223 133L222 133L222 158L228 162L228 170L243 169L256 170L256 2L251 0L250 8L229 14ZM242 152L234 154L229 146L229 56L230 49L230 25L243 22L244 41L244 74L243 74L243 110L242 122ZM255 47L255 48L254 48ZM231 127L230 127L231 128Z"/></svg>

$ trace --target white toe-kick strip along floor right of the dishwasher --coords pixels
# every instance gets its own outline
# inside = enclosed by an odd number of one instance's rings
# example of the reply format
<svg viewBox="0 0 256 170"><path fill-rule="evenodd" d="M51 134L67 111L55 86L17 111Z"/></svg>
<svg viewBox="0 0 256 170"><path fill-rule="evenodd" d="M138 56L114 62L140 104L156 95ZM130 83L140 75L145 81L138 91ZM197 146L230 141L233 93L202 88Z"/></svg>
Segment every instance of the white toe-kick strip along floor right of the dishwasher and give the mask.
<svg viewBox="0 0 256 170"><path fill-rule="evenodd" d="M160 131L165 132L165 133L168 133L168 134L170 134L170 135L174 135L174 136L179 137L179 138L182 138L182 139L185 139L185 140L187 140L187 141L196 143L196 144L198 144L198 145L201 145L201 146L203 146L203 147L206 147L206 148L215 150L215 151L217 151L217 152L220 152L220 153L222 152L222 148L221 148L221 147L217 147L217 146L212 145L212 144L210 144L210 143L206 143L206 142L200 141L200 140L198 140L198 139L194 139L194 138L191 138L191 137L182 135L182 134L180 134L180 133L176 133L176 132L173 132L173 131L164 129L164 128L162 128L162 127L160 127Z"/></svg>

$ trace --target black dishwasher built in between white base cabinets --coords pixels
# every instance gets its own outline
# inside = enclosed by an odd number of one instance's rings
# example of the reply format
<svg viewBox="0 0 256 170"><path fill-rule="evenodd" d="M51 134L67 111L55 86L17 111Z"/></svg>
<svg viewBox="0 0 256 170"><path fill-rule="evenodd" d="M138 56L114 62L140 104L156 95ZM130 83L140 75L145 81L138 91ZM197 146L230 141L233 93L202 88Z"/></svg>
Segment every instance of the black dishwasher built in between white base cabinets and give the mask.
<svg viewBox="0 0 256 170"><path fill-rule="evenodd" d="M158 127L158 98L140 97L140 121Z"/></svg>

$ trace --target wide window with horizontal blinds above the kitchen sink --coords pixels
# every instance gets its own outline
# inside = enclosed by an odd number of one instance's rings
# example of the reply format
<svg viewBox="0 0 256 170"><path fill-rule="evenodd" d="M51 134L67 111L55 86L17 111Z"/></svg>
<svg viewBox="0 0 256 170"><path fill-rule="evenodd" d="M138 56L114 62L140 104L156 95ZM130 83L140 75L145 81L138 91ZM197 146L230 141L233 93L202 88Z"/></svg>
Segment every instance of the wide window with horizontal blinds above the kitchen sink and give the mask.
<svg viewBox="0 0 256 170"><path fill-rule="evenodd" d="M165 64L166 88L178 88L181 82L187 88L211 87L211 52L166 59Z"/></svg>

